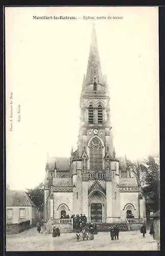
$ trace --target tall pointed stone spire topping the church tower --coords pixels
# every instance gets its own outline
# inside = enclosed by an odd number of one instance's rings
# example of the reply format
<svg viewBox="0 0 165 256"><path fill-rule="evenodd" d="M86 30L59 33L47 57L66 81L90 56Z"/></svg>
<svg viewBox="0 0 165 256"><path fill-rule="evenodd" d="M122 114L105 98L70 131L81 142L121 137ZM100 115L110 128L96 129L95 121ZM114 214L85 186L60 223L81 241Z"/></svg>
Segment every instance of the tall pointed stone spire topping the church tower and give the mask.
<svg viewBox="0 0 165 256"><path fill-rule="evenodd" d="M96 28L95 28L95 24L93 24L85 83L87 85L95 81L99 83L103 83L104 79L102 76L100 56L98 51Z"/></svg>

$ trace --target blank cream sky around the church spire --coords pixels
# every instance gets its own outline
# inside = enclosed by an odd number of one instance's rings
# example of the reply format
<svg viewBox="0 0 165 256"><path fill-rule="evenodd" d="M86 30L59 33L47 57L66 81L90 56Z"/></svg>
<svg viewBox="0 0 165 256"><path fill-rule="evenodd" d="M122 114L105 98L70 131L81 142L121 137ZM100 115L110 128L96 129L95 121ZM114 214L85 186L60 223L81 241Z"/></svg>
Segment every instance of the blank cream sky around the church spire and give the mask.
<svg viewBox="0 0 165 256"><path fill-rule="evenodd" d="M38 185L48 154L69 157L72 146L77 148L93 22L109 86L116 155L136 160L159 154L157 7L7 7L6 175L11 189Z"/></svg>

